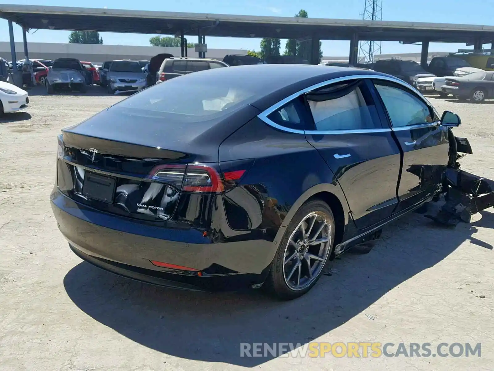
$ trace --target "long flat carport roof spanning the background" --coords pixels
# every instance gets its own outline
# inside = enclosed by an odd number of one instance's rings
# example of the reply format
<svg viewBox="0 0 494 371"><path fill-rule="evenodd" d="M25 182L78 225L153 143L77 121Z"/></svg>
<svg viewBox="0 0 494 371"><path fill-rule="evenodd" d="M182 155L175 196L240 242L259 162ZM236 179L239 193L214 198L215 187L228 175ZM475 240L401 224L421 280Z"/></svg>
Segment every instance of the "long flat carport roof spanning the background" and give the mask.
<svg viewBox="0 0 494 371"><path fill-rule="evenodd" d="M142 34L453 42L471 44L494 40L494 26L365 21L357 19L295 18L211 13L182 13L65 6L0 4L0 17L27 29L87 30Z"/></svg>

